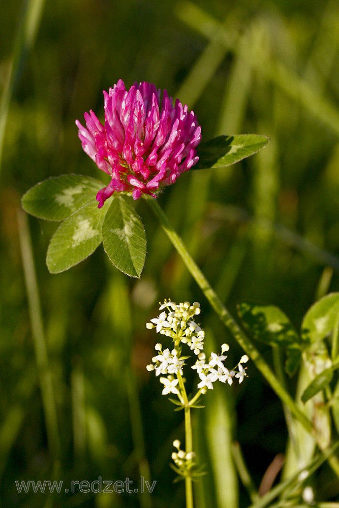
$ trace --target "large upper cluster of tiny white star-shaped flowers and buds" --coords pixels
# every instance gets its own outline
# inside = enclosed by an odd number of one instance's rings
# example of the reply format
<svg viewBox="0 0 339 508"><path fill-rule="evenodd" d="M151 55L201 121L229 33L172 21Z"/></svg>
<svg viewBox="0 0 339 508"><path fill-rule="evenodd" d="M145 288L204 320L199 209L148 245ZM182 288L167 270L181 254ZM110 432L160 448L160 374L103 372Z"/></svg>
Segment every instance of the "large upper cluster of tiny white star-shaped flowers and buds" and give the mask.
<svg viewBox="0 0 339 508"><path fill-rule="evenodd" d="M167 309L167 312L166 310ZM206 356L204 353L204 338L205 332L200 326L195 323L193 317L200 314L200 304L195 302L191 305L189 302L179 303L178 305L171 300L160 305L159 310L162 312L158 317L155 317L146 324L148 329L156 328L157 333L172 337L174 342L174 349L169 348L163 351L162 344L158 343L155 346L156 351L160 354L152 358L152 364L147 365L147 370L155 370L156 375L169 374L168 378L161 377L160 382L164 384L163 394L175 393L178 394L178 380L174 375L183 374L182 367L185 365L184 360L188 357L181 355L181 344L187 344L191 351L197 355L198 359L193 365L192 369L196 369L200 383L198 389L201 393L206 393L207 389L213 389L213 383L220 381L221 383L228 383L232 385L233 377L242 382L246 376L246 371L242 364L248 361L248 356L243 355L237 367L233 370L228 370L224 365L224 360L227 356L224 355L229 350L228 344L223 344L221 347L221 355L211 353L208 363L206 363ZM237 369L237 370L236 370Z"/></svg>

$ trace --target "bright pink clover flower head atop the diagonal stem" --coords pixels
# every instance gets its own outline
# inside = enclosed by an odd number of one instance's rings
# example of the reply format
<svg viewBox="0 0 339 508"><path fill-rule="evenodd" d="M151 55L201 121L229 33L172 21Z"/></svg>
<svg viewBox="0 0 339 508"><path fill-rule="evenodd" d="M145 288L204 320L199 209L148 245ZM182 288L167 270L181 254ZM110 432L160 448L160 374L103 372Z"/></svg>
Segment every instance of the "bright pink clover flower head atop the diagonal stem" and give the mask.
<svg viewBox="0 0 339 508"><path fill-rule="evenodd" d="M197 162L201 128L193 111L152 83L135 83L129 90L121 79L104 91L105 120L84 114L86 127L76 125L82 148L111 181L97 194L99 208L114 192L156 197Z"/></svg>

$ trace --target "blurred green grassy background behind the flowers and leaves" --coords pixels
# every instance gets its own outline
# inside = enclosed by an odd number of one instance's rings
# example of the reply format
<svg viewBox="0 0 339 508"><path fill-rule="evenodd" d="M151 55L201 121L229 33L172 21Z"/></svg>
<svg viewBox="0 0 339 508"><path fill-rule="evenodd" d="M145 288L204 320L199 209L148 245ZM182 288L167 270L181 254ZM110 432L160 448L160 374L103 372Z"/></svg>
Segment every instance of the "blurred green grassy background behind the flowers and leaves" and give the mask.
<svg viewBox="0 0 339 508"><path fill-rule="evenodd" d="M164 298L197 300L210 347L228 341L232 364L238 346L142 200L148 256L136 280L110 266L102 247L50 275L45 253L55 225L18 222L20 198L49 176L103 178L81 149L75 119L89 109L100 116L102 90L119 78L128 87L154 82L194 109L205 140L270 137L226 171L183 175L159 202L232 311L241 299L268 302L299 327L319 296L339 288L339 4L13 0L0 3L0 24L0 506L183 506L183 485L173 486L168 466L183 415L145 369L157 340L145 323ZM232 441L257 487L285 452L281 403L251 364L248 373L241 387L208 393L194 420L208 471L197 485L198 508L250 504ZM46 427L41 394L49 382L56 415ZM157 481L151 496L18 494L14 484L140 475ZM326 467L317 482L321 499L336 498Z"/></svg>

